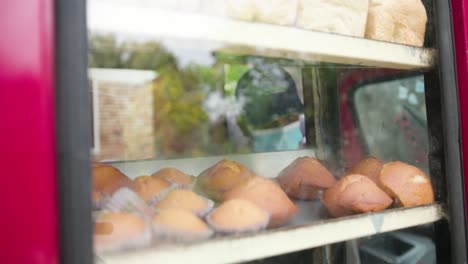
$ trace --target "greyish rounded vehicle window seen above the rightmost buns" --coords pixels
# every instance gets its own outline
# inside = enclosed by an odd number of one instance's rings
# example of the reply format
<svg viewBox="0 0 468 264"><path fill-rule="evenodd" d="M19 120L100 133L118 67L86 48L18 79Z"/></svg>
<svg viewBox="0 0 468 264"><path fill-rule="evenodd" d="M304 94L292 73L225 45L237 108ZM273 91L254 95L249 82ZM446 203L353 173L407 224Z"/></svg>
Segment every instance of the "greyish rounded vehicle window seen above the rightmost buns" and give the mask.
<svg viewBox="0 0 468 264"><path fill-rule="evenodd" d="M427 165L423 76L364 85L355 92L354 107L370 155Z"/></svg>

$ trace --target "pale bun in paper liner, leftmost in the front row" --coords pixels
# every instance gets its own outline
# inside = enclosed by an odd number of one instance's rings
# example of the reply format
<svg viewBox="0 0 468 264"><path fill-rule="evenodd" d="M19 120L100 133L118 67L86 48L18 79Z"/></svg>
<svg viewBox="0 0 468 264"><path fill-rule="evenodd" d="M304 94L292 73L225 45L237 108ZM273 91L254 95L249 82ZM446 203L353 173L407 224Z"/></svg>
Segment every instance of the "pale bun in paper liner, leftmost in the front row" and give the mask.
<svg viewBox="0 0 468 264"><path fill-rule="evenodd" d="M145 220L130 213L103 213L94 228L98 251L136 247L148 243L150 238Z"/></svg>

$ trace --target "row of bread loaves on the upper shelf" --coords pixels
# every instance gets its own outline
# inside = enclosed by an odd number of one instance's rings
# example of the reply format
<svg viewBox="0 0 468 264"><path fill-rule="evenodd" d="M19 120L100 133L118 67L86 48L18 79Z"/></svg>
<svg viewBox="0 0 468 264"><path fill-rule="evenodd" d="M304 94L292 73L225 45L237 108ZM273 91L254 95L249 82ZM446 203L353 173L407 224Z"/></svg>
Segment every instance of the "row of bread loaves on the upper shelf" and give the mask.
<svg viewBox="0 0 468 264"><path fill-rule="evenodd" d="M423 46L421 0L157 0L159 6L354 37Z"/></svg>

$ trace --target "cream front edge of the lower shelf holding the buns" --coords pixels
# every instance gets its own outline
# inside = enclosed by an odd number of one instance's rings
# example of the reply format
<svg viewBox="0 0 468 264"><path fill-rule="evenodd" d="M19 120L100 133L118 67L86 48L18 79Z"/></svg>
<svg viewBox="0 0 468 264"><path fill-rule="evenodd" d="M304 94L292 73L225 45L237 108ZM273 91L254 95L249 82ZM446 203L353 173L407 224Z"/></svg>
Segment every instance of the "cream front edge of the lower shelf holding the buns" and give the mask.
<svg viewBox="0 0 468 264"><path fill-rule="evenodd" d="M312 202L310 208L319 208ZM300 207L306 206L305 204ZM302 208L301 208L302 209ZM312 210L315 210L312 209ZM444 217L440 204L317 220L249 236L222 237L197 244L145 248L99 258L106 264L237 263L428 224Z"/></svg>

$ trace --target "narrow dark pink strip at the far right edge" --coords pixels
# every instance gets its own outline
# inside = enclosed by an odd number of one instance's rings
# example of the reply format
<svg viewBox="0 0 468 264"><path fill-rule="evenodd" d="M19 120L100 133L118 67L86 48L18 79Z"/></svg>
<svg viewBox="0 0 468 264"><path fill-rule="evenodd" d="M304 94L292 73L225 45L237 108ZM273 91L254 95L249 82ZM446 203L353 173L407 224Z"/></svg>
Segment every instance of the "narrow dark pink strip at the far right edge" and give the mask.
<svg viewBox="0 0 468 264"><path fill-rule="evenodd" d="M465 175L466 194L468 193L468 2L465 0L452 0L452 18L455 36L455 54L457 59L463 171ZM465 202L468 204L468 199ZM468 217L468 211L466 215Z"/></svg>

